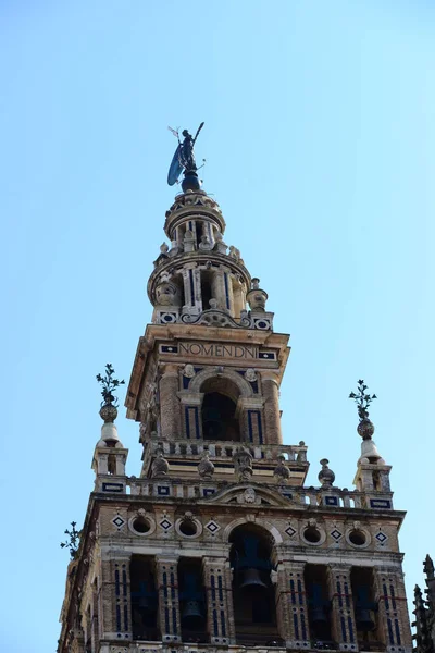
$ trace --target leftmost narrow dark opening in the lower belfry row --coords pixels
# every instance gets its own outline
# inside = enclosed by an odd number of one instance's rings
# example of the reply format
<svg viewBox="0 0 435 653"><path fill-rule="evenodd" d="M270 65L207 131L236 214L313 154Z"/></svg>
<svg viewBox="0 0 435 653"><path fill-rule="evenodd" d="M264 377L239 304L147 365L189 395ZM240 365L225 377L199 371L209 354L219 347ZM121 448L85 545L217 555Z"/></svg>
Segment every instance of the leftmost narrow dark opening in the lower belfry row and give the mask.
<svg viewBox="0 0 435 653"><path fill-rule="evenodd" d="M145 555L132 557L132 630L134 640L159 641L158 593L152 558Z"/></svg>

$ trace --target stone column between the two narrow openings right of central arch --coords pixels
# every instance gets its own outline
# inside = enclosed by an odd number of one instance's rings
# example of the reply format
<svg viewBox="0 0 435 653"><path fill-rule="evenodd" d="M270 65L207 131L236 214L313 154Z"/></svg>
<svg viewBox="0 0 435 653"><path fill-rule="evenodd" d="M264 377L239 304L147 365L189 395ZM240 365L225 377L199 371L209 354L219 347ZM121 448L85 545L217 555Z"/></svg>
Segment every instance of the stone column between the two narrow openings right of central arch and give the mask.
<svg viewBox="0 0 435 653"><path fill-rule="evenodd" d="M357 625L350 584L350 565L330 565L331 633L340 651L357 651Z"/></svg>

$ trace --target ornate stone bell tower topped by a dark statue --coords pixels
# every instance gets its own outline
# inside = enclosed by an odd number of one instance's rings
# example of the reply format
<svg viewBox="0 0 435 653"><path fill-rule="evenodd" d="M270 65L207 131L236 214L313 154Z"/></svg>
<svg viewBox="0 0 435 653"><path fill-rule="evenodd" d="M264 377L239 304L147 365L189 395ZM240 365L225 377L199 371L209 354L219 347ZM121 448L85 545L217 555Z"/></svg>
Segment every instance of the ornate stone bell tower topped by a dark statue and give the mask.
<svg viewBox="0 0 435 653"><path fill-rule="evenodd" d="M307 446L283 444L281 429L289 336L273 331L268 294L225 244L186 139L126 393L140 476L125 472L109 374L58 651L410 653L405 515L372 440L375 397L363 382L351 394L363 438L356 490L334 484L326 458L320 485L306 486Z"/></svg>

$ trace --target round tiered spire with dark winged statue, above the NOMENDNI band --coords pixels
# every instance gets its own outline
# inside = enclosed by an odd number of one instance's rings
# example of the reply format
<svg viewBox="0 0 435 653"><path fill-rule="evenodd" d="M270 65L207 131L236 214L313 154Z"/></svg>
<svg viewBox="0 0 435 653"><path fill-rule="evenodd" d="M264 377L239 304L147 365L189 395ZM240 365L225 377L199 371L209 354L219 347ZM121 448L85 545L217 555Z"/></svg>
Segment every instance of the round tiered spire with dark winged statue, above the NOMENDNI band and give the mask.
<svg viewBox="0 0 435 653"><path fill-rule="evenodd" d="M185 130L183 140L172 130L178 147L167 182L175 184L184 171L183 193L166 211L164 231L171 245L160 246L148 282L152 322L272 331L268 293L259 279L251 280L240 250L224 242L222 211L200 189L194 146L202 124L195 137Z"/></svg>

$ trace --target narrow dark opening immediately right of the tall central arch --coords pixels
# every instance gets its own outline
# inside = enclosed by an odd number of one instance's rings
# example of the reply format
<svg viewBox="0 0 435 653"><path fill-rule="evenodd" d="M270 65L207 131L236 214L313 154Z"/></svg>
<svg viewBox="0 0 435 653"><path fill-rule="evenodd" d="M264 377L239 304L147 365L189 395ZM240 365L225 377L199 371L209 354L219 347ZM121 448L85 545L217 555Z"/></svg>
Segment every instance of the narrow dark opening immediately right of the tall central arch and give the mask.
<svg viewBox="0 0 435 653"><path fill-rule="evenodd" d="M322 644L321 648L335 649L331 633L331 601L326 567L323 565L306 565L304 582L311 639Z"/></svg>

